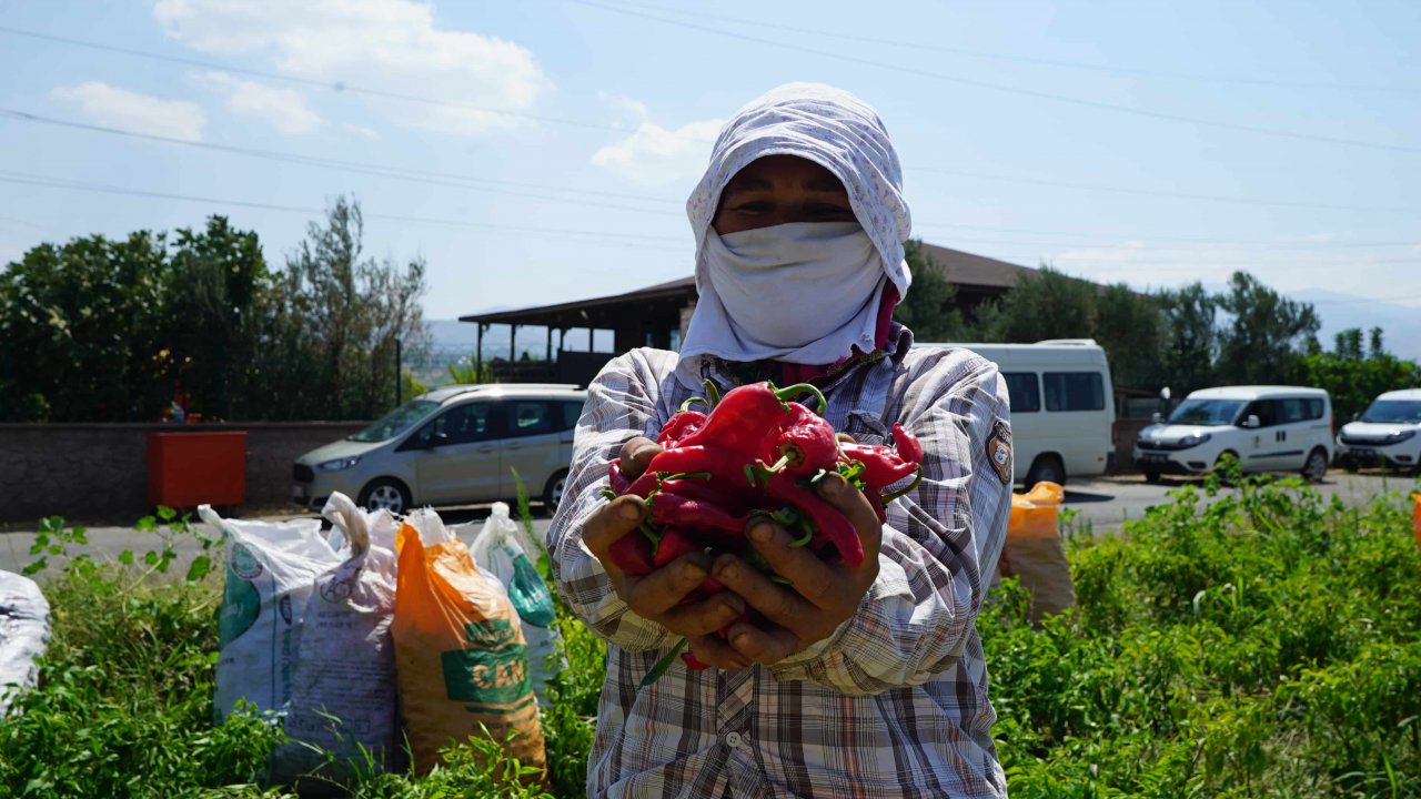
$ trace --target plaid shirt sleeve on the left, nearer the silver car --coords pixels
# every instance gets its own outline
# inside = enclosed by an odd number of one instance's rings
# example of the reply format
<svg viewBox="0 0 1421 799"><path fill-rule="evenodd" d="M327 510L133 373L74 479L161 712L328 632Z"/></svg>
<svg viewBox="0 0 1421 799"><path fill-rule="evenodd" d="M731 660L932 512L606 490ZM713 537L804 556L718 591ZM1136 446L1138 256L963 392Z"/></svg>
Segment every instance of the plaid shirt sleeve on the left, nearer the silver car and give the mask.
<svg viewBox="0 0 1421 799"><path fill-rule="evenodd" d="M587 404L573 438L567 493L547 532L558 593L594 633L628 651L665 647L674 636L632 613L617 596L607 570L583 543L583 525L607 505L600 492L610 488L607 466L621 445L659 429L658 377L652 363L657 357L657 351L632 350L608 363L588 385Z"/></svg>

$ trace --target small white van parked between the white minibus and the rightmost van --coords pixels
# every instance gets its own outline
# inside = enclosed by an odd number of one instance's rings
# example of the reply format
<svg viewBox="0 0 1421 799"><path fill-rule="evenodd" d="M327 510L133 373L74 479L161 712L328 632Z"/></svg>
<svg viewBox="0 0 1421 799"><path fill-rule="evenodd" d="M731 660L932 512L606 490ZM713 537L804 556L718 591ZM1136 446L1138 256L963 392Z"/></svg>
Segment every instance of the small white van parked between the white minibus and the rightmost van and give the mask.
<svg viewBox="0 0 1421 799"><path fill-rule="evenodd" d="M1226 454L1245 472L1302 472L1316 482L1331 463L1331 400L1322 388L1205 388L1140 431L1134 461L1150 482L1206 473Z"/></svg>

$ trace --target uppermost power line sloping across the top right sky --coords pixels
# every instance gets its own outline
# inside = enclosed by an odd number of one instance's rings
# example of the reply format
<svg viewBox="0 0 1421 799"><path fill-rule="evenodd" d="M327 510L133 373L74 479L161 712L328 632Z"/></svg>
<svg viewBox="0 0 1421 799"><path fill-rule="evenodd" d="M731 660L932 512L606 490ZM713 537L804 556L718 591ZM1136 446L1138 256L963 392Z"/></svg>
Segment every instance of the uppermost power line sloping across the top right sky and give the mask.
<svg viewBox="0 0 1421 799"><path fill-rule="evenodd" d="M729 37L729 38L737 38L737 40L742 40L742 41L753 41L753 43L757 43L757 44L767 44L770 47L779 47L782 50L793 50L796 53L809 53L811 55L820 55L820 57L824 57L824 58L834 58L837 61L847 61L847 63L851 63L851 64L861 64L861 65L865 65L865 67L877 67L880 70L891 70L891 71L895 71L895 73L904 73L904 74L911 74L911 75L935 78L935 80L939 80L939 81L946 81L946 82L953 82L953 84L961 84L961 85L969 85L969 87L983 88L983 90L989 90L989 91L999 91L999 92L1005 92L1005 94L1016 94L1016 95L1022 95L1022 97L1032 97L1032 98L1036 98L1036 100L1049 100L1052 102L1064 102L1064 104L1069 104L1069 105L1080 105L1080 107L1084 107L1084 108L1096 108L1096 109L1101 109L1101 111L1114 111L1117 114L1131 114L1131 115L1135 115L1135 117L1147 117L1147 118L1164 119L1164 121L1169 121L1169 122L1185 122L1185 124L1191 124L1191 125L1201 125L1201 127L1208 127L1208 128L1219 128L1219 129L1225 129L1225 131L1239 131L1239 132L1260 134L1260 135L1289 138L1289 139L1299 139L1299 141L1312 141L1312 142L1319 142L1319 144L1333 144L1333 145L1357 146L1357 148L1367 148L1367 149L1381 149L1381 151L1390 151L1390 152L1421 154L1421 146L1408 146L1408 145L1394 145L1394 144L1383 144L1383 142L1370 142L1370 141L1361 141L1361 139L1347 139L1347 138L1341 138L1341 136L1326 136L1326 135L1320 135L1320 134L1303 134L1303 132L1297 132L1297 131L1285 131L1285 129L1277 129L1277 128L1260 128L1260 127L1256 127L1256 125L1243 125L1243 124L1238 124L1238 122L1221 122L1221 121L1215 121L1215 119L1201 119L1198 117L1187 117L1184 114L1169 114L1167 111L1150 111L1150 109L1145 109L1145 108L1135 108L1133 105L1120 105L1120 104L1104 102L1104 101L1098 101L1098 100L1086 100L1086 98L1081 98L1081 97L1070 97L1070 95L1053 94L1053 92L1029 90L1029 88L1010 87L1010 85L1005 85L1005 84L993 84L993 82L989 82L989 81L978 81L978 80L972 80L972 78L962 78L962 77L958 77L958 75L948 75L948 74L944 74L944 73L934 73L934 71L929 71L929 70L919 70L919 68L915 68L915 67L904 67L901 64L885 64L882 61L874 61L871 58L858 58L855 55L845 55L843 53L830 53L827 50L816 50L813 47L801 47L799 44L791 44L791 43L787 43L787 41L776 41L776 40L772 40L772 38L762 38L762 37L757 37L757 36L750 36L750 34L743 34L743 33L736 33L736 31L728 31L728 30L715 28L715 27L709 27L709 26L701 26L701 24L696 24L696 23L688 23L688 21L682 21L682 20L666 18L666 17L661 17L661 16L655 16L655 14L644 14L641 11L634 11L631 9L622 9L622 7L617 7L617 6L607 6L604 3L597 3L594 0L566 0L566 1L567 3L577 3L580 6L587 6L587 7L591 7L591 9L601 9L604 11L612 11L615 14L625 14L625 16L630 16L630 17L638 17L638 18L644 18L644 20L651 20L651 21L657 21L657 23L662 23L662 24L668 24L668 26L675 26L675 27L682 27L682 28L689 28L689 30L698 30L698 31L703 31L703 33L713 33L716 36L723 36L723 37Z"/></svg>

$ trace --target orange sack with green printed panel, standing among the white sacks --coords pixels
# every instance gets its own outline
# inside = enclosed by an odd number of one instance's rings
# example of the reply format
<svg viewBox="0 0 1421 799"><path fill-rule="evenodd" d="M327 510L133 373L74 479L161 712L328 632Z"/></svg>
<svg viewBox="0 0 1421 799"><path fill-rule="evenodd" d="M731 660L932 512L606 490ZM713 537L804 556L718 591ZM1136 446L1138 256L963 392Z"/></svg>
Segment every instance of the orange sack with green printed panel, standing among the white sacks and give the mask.
<svg viewBox="0 0 1421 799"><path fill-rule="evenodd" d="M422 518L421 518L422 516ZM543 728L519 616L479 572L469 547L432 512L399 529L395 680L414 771L428 773L450 741L482 735L506 744L522 765L546 769ZM429 546L421 540L421 529Z"/></svg>

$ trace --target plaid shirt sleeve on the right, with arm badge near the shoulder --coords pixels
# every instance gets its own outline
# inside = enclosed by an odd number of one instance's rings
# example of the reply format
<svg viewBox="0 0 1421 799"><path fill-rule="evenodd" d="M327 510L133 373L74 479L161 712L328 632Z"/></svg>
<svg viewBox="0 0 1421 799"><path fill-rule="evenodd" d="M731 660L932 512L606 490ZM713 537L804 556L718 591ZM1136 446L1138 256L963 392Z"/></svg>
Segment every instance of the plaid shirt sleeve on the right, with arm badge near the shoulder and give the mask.
<svg viewBox="0 0 1421 799"><path fill-rule="evenodd" d="M907 365L898 419L922 442L922 482L888 506L878 579L858 613L833 637L774 664L779 680L868 695L953 667L965 681L985 671L968 633L1012 506L1006 385L996 365L965 350Z"/></svg>

